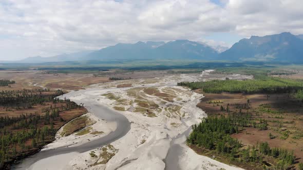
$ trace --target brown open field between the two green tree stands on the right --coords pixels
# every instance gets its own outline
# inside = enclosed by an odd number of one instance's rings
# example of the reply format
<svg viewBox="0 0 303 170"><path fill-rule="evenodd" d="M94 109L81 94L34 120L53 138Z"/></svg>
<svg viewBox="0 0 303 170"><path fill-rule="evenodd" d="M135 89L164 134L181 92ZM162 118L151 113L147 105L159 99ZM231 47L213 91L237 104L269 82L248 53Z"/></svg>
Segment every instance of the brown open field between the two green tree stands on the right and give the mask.
<svg viewBox="0 0 303 170"><path fill-rule="evenodd" d="M196 92L202 93L200 90ZM232 135L244 145L255 145L267 141L271 147L282 147L294 151L297 161L303 162L303 102L289 94L204 94L205 97L197 104L209 116L226 115L221 105L231 112L239 112L239 105L249 101L249 108L241 109L242 113L251 113L256 123L261 119L268 121L268 130L244 128L239 134ZM262 106L263 105L263 106ZM266 107L264 107L266 106ZM269 133L275 138L270 139Z"/></svg>

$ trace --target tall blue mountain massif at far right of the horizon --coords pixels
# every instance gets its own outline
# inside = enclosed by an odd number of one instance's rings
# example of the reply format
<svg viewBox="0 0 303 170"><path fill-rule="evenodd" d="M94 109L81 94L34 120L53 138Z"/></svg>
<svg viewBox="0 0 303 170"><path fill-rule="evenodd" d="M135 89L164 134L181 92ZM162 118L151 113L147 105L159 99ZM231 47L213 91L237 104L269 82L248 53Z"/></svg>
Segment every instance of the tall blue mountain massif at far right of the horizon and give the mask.
<svg viewBox="0 0 303 170"><path fill-rule="evenodd" d="M221 53L225 60L272 60L303 62L303 40L290 32L241 39Z"/></svg>

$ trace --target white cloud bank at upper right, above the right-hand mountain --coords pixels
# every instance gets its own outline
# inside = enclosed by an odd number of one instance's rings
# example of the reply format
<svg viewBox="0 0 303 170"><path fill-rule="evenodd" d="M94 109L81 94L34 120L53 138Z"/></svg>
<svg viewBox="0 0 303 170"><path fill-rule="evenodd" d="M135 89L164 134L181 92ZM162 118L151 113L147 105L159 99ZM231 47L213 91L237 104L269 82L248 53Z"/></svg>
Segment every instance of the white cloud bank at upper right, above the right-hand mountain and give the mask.
<svg viewBox="0 0 303 170"><path fill-rule="evenodd" d="M230 0L226 5L229 18L236 23L240 35L268 35L280 32L301 34L303 28L303 1L242 1Z"/></svg>

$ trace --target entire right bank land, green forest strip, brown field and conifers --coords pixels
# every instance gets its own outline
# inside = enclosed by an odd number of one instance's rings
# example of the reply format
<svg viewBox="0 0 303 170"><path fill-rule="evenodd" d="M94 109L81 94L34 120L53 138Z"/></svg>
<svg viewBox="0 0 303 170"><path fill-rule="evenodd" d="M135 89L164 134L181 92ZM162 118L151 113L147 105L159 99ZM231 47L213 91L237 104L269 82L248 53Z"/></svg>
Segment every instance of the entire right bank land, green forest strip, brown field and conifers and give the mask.
<svg viewBox="0 0 303 170"><path fill-rule="evenodd" d="M178 83L205 94L187 145L245 169L303 169L303 81L255 78Z"/></svg>

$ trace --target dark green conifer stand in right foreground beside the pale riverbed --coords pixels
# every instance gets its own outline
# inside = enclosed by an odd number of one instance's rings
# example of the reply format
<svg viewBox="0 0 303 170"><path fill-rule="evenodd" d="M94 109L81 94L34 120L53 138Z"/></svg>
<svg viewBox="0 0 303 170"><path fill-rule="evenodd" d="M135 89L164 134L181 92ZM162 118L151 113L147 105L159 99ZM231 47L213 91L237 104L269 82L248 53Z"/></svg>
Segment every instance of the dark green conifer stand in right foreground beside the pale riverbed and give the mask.
<svg viewBox="0 0 303 170"><path fill-rule="evenodd" d="M193 132L186 141L188 145L213 151L231 162L252 163L260 169L267 169L264 164L272 165L272 169L288 169L293 166L295 162L293 152L282 148L270 148L267 142L244 148L241 142L231 137L232 134L238 133L239 129L247 126L251 124L249 117L244 114L209 117L192 127Z"/></svg>

